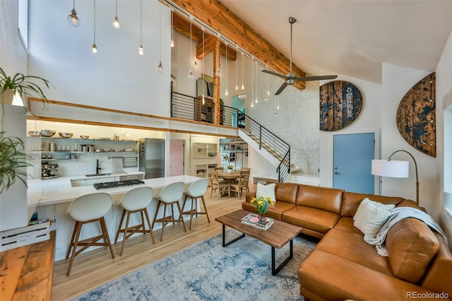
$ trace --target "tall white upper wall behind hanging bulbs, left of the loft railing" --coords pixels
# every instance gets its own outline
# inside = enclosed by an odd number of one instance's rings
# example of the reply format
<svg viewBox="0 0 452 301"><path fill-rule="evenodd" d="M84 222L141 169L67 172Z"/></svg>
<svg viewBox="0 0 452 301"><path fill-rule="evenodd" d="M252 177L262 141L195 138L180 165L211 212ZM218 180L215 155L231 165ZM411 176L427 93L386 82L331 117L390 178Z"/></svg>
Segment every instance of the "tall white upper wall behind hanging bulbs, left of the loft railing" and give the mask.
<svg viewBox="0 0 452 301"><path fill-rule="evenodd" d="M3 2L3 1L2 1ZM30 1L30 73L49 80L54 88L47 98L64 102L109 107L129 112L169 117L170 10L159 1L143 1L143 47L138 54L139 1L119 10L121 29L112 26L114 2L96 1L96 45L93 45L93 1L76 1L81 26L66 20L72 1ZM48 13L52 8L52 13ZM162 13L162 64L158 73L159 9ZM126 11L133 20L121 18ZM42 22L46 18L46 22ZM162 88L167 87L167 88Z"/></svg>

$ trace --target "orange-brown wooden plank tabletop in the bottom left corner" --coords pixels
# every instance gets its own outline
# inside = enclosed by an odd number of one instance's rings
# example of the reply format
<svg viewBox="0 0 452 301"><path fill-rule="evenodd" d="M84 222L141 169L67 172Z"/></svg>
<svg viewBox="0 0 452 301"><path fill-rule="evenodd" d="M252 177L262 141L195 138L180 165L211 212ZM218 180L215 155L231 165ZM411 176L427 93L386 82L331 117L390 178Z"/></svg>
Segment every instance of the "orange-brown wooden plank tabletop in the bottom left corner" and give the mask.
<svg viewBox="0 0 452 301"><path fill-rule="evenodd" d="M44 242L0 252L0 300L50 300L55 230Z"/></svg>

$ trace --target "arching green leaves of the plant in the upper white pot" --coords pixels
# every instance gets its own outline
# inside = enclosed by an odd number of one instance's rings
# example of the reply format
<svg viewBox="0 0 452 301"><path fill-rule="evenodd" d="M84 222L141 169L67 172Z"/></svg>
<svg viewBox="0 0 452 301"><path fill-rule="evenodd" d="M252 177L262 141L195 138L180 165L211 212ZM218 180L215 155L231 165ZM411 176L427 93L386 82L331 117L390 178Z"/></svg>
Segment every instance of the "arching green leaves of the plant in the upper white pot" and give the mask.
<svg viewBox="0 0 452 301"><path fill-rule="evenodd" d="M16 75L11 77L6 75L5 71L0 68L0 94L11 89L14 93L18 93L20 98L23 95L32 96L32 94L35 94L45 102L47 98L44 95L44 91L32 80L42 81L49 88L50 82L47 79L40 78L39 76L25 76L22 73L16 73Z"/></svg>

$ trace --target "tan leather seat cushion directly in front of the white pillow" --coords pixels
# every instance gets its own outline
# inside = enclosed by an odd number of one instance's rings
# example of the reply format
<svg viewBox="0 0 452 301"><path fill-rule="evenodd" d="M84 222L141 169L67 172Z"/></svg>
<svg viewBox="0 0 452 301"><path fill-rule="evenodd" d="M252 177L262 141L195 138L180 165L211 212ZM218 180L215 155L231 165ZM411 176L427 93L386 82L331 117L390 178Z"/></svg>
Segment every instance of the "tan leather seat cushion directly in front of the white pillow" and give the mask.
<svg viewBox="0 0 452 301"><path fill-rule="evenodd" d="M388 257L380 256L375 246L364 242L362 234L333 228L316 245L316 249L330 252L375 271L394 276Z"/></svg>

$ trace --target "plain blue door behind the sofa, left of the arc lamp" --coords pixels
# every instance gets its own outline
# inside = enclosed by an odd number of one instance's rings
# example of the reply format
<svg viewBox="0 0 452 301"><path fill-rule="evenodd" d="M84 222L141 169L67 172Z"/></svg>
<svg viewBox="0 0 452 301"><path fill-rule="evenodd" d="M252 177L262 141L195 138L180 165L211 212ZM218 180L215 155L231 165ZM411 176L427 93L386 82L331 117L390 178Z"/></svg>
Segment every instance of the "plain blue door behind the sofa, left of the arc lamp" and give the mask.
<svg viewBox="0 0 452 301"><path fill-rule="evenodd" d="M374 194L374 176L371 175L374 155L374 133L334 135L333 187Z"/></svg>

